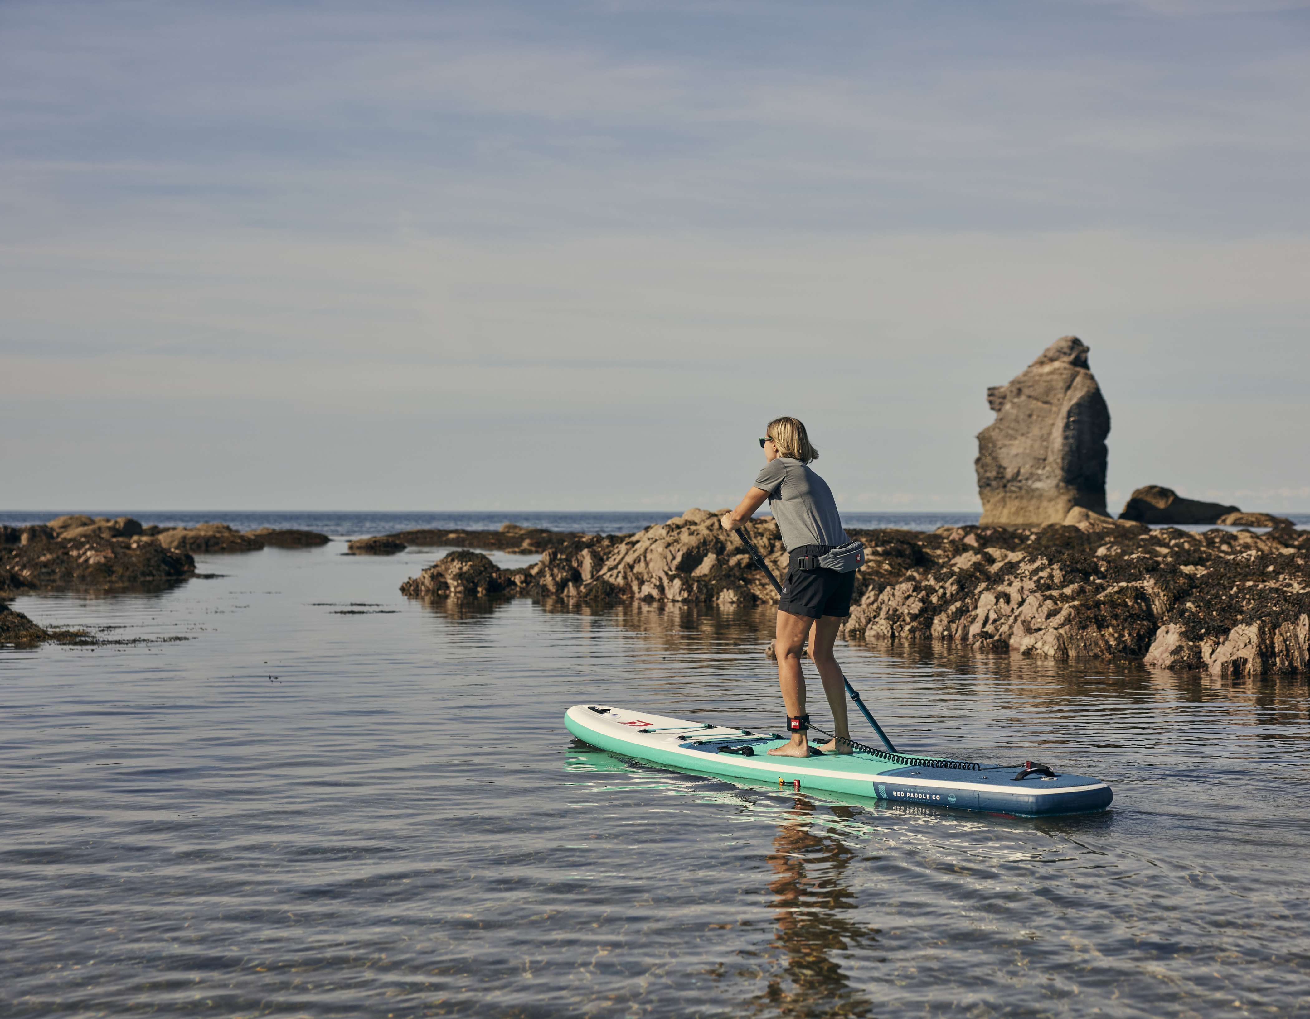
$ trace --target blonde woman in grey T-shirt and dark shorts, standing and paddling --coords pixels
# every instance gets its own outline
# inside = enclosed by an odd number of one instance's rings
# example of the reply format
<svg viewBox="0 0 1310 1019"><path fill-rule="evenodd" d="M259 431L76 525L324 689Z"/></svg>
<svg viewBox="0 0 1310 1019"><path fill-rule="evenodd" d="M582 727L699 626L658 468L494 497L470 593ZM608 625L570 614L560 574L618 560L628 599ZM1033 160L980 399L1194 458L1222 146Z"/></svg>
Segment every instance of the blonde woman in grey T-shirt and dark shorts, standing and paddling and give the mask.
<svg viewBox="0 0 1310 1019"><path fill-rule="evenodd" d="M840 739L850 739L845 678L833 658L832 646L842 619L850 615L854 566L863 561L863 555L859 544L852 543L841 528L837 501L828 483L810 470L810 463L819 458L819 450L810 445L806 426L795 417L777 417L769 423L760 445L764 447L764 470L738 508L723 514L722 522L724 528L735 531L769 500L773 519L782 532L789 561L778 600L774 650L791 742L769 753L808 757L814 750L806 735L810 716L806 714L800 649L808 634L810 658L823 679L836 734ZM844 555L844 548L853 551ZM850 747L840 739L824 744L823 750L850 753Z"/></svg>

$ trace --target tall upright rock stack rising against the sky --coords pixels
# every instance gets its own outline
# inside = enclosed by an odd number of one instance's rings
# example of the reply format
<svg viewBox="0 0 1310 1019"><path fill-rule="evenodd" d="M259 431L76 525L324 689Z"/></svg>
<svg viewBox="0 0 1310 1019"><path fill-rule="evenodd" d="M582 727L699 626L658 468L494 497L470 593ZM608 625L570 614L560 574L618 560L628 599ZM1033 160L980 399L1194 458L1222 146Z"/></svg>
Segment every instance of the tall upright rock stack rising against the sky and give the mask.
<svg viewBox="0 0 1310 1019"><path fill-rule="evenodd" d="M996 421L979 432L973 462L981 523L1062 523L1074 506L1106 513L1110 408L1087 344L1062 336L986 400Z"/></svg>

